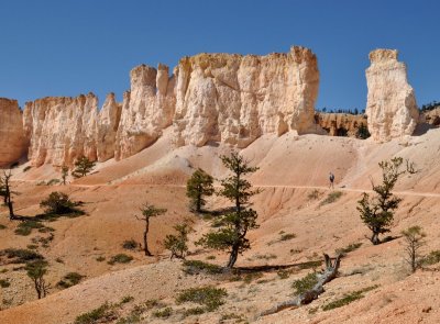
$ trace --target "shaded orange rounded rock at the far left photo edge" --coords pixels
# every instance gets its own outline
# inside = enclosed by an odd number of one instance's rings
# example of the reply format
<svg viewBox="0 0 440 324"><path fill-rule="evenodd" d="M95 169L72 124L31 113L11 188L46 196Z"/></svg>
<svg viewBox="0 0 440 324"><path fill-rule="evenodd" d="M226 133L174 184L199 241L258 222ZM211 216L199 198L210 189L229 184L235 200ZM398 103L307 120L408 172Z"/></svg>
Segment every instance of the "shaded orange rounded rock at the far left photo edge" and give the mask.
<svg viewBox="0 0 440 324"><path fill-rule="evenodd" d="M0 98L0 167L15 163L25 153L23 119L16 100Z"/></svg>

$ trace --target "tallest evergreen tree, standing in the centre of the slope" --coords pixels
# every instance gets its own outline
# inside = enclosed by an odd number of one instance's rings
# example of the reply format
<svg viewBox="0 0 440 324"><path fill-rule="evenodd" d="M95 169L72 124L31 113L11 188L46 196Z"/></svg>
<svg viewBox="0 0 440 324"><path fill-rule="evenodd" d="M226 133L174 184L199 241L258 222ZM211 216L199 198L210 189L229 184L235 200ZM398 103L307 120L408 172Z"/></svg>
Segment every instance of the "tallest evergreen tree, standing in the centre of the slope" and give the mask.
<svg viewBox="0 0 440 324"><path fill-rule="evenodd" d="M234 211L222 215L218 222L218 231L205 234L197 244L229 250L227 268L232 268L239 254L251 248L246 238L248 231L257 227L257 213L248 205L251 197L260 191L251 190L251 183L243 178L248 174L255 172L257 168L250 167L249 163L235 152L231 156L221 156L221 160L232 171L232 176L221 181L223 188L219 194L234 203Z"/></svg>

